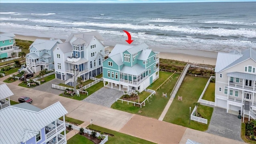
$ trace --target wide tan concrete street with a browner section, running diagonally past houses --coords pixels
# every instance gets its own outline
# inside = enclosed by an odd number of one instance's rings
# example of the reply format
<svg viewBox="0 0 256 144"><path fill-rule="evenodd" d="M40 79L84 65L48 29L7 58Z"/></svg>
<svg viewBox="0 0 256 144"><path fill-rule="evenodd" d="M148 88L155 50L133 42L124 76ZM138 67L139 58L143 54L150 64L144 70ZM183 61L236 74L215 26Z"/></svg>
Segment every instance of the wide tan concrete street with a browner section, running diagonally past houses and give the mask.
<svg viewBox="0 0 256 144"><path fill-rule="evenodd" d="M0 84L2 84L2 82L0 82ZM158 144L185 144L186 138L190 138L191 140L202 144L222 144L223 142L225 142L225 144L242 143L206 132L191 130L189 128L159 121L153 118L138 116L88 102L73 100L56 94L42 92L40 90L24 88L14 84L6 85L14 93L14 96L11 96L10 98L11 100L17 101L20 95L26 94L33 99L32 104L41 109L60 101L68 111L68 117L82 120L87 123L93 119L92 123L98 126L136 136ZM212 141L209 142L207 140Z"/></svg>

